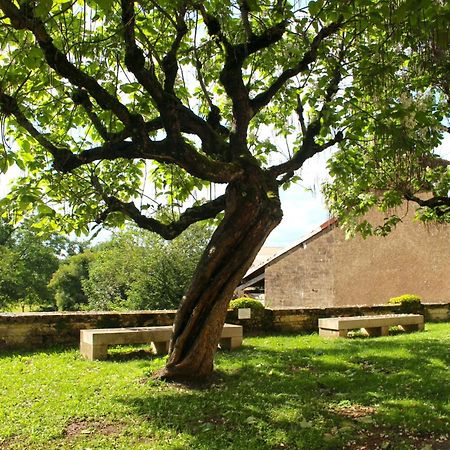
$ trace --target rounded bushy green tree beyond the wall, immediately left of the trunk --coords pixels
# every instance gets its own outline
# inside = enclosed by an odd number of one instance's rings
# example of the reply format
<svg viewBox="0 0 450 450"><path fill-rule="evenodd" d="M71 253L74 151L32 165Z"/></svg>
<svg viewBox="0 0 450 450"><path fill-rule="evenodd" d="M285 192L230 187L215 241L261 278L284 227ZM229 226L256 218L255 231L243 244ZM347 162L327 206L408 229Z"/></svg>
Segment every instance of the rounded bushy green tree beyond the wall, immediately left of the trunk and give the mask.
<svg viewBox="0 0 450 450"><path fill-rule="evenodd" d="M210 236L198 225L170 242L131 229L100 244L82 282L87 308L177 309Z"/></svg>

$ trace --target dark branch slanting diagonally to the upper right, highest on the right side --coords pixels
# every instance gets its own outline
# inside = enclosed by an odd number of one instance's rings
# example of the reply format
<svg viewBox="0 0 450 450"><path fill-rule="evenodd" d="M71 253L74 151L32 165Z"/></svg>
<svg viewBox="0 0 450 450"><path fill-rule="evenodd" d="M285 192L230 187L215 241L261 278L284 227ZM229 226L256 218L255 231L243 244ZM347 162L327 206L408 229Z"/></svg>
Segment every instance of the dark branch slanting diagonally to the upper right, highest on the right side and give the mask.
<svg viewBox="0 0 450 450"><path fill-rule="evenodd" d="M342 22L343 19L341 18L337 22L333 22L330 25L323 27L314 37L309 50L303 55L303 58L294 67L283 71L266 91L261 92L255 98L250 100L250 106L253 110L254 115L272 100L272 98L289 79L295 77L300 72L304 72L305 70L309 69L309 65L317 59L318 51L322 41L336 33L336 31L338 31L341 27Z"/></svg>

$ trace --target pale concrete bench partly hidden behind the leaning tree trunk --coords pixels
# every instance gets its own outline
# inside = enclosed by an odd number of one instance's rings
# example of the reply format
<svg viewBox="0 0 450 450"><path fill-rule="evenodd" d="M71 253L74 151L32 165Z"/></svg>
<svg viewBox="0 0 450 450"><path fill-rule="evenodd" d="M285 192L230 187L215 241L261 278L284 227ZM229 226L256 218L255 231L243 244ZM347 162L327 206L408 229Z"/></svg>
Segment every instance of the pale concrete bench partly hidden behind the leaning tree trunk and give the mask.
<svg viewBox="0 0 450 450"><path fill-rule="evenodd" d="M106 359L111 345L152 344L158 355L166 354L172 326L135 328L94 328L80 330L80 352L90 361ZM221 348L235 349L242 345L242 326L226 323L220 339Z"/></svg>

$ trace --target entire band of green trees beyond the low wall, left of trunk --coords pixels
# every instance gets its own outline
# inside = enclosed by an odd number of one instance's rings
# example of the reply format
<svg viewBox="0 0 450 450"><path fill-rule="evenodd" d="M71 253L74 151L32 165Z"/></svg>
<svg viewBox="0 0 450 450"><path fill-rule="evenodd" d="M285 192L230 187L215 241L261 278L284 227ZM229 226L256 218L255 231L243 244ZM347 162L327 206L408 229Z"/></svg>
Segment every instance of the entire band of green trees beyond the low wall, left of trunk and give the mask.
<svg viewBox="0 0 450 450"><path fill-rule="evenodd" d="M131 228L92 246L0 222L0 310L178 308L210 236L198 225L167 242Z"/></svg>

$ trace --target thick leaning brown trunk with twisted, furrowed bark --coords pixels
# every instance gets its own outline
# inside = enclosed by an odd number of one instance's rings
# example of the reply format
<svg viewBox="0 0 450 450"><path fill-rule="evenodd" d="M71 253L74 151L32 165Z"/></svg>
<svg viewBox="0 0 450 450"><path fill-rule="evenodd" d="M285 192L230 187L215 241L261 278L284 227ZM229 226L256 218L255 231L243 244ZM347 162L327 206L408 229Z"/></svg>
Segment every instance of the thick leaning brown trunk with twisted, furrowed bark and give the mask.
<svg viewBox="0 0 450 450"><path fill-rule="evenodd" d="M178 310L167 364L155 376L201 380L212 374L230 298L282 218L275 181L257 181L228 187L225 217Z"/></svg>

